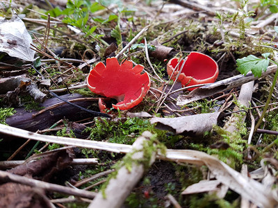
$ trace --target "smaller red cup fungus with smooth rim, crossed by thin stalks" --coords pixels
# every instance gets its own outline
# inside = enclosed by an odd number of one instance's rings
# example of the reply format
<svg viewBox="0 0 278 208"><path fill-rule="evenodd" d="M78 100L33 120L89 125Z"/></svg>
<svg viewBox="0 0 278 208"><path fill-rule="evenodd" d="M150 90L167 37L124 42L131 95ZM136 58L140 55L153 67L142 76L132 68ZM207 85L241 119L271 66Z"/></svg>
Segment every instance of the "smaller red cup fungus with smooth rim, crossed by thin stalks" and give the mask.
<svg viewBox="0 0 278 208"><path fill-rule="evenodd" d="M174 71L174 68L179 63L178 58L172 58L167 63L167 73L169 76ZM179 69L183 65L183 61L179 64ZM179 69L176 69L172 76L172 80L175 80ZM177 79L183 87L204 84L204 83L214 83L216 78L218 78L218 64L210 58L208 55L198 52L191 52L187 56L186 63L181 70L179 78ZM190 88L188 90L193 90L197 87Z"/></svg>

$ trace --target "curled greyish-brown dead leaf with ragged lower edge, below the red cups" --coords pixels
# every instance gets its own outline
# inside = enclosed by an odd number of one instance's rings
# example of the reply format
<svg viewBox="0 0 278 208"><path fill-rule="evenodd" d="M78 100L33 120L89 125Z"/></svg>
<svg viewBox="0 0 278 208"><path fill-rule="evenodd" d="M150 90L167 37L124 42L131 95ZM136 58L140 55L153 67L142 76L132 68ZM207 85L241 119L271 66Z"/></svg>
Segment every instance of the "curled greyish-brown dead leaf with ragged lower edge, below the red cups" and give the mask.
<svg viewBox="0 0 278 208"><path fill-rule="evenodd" d="M189 136L201 136L206 131L210 131L216 125L222 112L208 114L196 114L193 116L180 116L177 118L154 117L151 123L157 123L156 128L170 130L175 134Z"/></svg>

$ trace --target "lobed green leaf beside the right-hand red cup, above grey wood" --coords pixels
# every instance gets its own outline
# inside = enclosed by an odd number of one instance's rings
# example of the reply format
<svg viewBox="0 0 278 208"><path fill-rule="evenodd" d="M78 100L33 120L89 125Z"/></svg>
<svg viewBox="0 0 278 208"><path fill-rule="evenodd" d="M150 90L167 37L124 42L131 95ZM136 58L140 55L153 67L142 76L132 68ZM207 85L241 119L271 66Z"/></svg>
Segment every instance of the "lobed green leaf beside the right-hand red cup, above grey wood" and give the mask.
<svg viewBox="0 0 278 208"><path fill-rule="evenodd" d="M267 58L268 54L263 54L265 59L257 58L254 55L248 55L245 58L240 58L236 60L236 65L238 71L246 75L249 71L252 71L254 76L261 76L262 71L266 71L270 60Z"/></svg>

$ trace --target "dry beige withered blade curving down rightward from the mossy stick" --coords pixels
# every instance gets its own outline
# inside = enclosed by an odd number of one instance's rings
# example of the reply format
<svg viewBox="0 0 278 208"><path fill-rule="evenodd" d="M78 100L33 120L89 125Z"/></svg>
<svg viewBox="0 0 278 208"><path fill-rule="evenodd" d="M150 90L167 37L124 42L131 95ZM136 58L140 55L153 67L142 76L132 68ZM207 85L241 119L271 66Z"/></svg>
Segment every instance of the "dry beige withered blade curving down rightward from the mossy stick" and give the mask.
<svg viewBox="0 0 278 208"><path fill-rule="evenodd" d="M278 205L277 190L269 189L250 177L220 161L220 159L196 150L167 150L166 158L176 162L206 165L215 178L229 189L236 191L242 198L252 201L259 207L275 207Z"/></svg>

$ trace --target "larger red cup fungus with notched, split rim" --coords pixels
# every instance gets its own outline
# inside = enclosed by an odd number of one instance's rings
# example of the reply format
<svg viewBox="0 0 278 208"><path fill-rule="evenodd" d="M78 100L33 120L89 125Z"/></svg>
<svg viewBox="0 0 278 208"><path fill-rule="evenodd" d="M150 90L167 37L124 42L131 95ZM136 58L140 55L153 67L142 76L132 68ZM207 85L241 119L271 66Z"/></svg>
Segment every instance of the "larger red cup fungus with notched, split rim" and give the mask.
<svg viewBox="0 0 278 208"><path fill-rule="evenodd" d="M90 71L87 85L95 94L115 98L118 101L113 105L115 109L127 110L138 105L151 86L149 75L141 74L143 69L142 65L133 67L129 60L119 64L117 58L107 58L106 66L99 62Z"/></svg>

